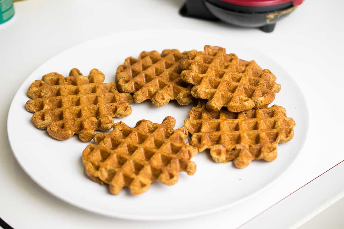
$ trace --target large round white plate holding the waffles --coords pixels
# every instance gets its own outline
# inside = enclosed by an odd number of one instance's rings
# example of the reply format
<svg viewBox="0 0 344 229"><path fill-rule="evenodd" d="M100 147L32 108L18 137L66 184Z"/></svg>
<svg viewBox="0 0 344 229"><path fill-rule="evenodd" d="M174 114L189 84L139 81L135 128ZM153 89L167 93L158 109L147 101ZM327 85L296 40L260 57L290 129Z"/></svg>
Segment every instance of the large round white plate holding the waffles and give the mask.
<svg viewBox="0 0 344 229"><path fill-rule="evenodd" d="M19 164L37 184L64 201L120 218L187 218L233 206L256 194L286 171L299 154L308 129L307 106L297 83L276 62L257 50L242 48L242 44L229 45L228 39L201 32L133 31L101 37L53 57L25 80L9 110L8 137ZM239 42L231 41L230 44ZM137 57L142 50L202 50L205 44L223 46L242 59L254 59L277 76L282 89L272 104L284 106L288 116L295 119L296 127L294 138L279 145L275 161L253 161L245 169L236 169L231 162L213 162L206 151L193 158L197 164L196 173L193 176L181 173L174 186L154 183L148 192L139 196L131 195L127 189L114 196L109 194L106 185L89 180L84 173L81 155L88 143L81 142L77 135L67 141L53 139L46 130L35 128L31 122L32 113L25 110L25 102L29 99L26 91L35 79L41 79L46 73L56 71L67 75L70 69L77 67L86 75L90 69L98 68L105 73L105 82L110 82L115 80L117 66L128 56ZM179 128L184 118L188 118L191 107L175 102L163 107L155 107L150 101L133 103L132 114L115 118L115 122L134 126L140 119L149 119L161 123L164 117L172 115Z"/></svg>

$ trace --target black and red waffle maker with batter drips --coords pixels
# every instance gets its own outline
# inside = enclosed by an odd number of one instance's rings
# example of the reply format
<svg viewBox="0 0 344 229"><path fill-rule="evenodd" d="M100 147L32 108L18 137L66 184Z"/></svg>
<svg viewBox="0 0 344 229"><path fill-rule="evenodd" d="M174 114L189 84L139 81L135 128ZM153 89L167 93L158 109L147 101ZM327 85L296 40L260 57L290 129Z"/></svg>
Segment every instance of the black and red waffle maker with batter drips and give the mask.
<svg viewBox="0 0 344 229"><path fill-rule="evenodd" d="M224 21L272 32L276 22L285 18L303 0L186 0L183 16Z"/></svg>

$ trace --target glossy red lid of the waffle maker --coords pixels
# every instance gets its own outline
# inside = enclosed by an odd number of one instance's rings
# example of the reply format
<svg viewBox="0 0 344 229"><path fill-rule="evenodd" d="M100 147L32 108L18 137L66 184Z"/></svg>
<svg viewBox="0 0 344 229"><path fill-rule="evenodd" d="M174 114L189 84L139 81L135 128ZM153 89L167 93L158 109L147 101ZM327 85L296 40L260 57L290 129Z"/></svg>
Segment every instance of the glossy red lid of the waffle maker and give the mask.
<svg viewBox="0 0 344 229"><path fill-rule="evenodd" d="M235 5L243 5L248 7L268 7L292 2L293 5L300 5L303 0L220 0Z"/></svg>

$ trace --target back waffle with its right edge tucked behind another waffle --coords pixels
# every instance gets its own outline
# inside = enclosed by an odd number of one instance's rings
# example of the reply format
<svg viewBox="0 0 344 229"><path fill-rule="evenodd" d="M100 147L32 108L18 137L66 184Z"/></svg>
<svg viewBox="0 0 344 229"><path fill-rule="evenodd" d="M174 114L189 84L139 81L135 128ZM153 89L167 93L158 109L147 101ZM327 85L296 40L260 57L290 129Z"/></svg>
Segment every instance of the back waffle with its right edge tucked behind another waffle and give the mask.
<svg viewBox="0 0 344 229"><path fill-rule="evenodd" d="M191 84L180 78L180 63L186 53L177 49L143 51L139 58L128 57L117 68L116 82L121 92L134 93L135 102L152 100L156 106L163 106L170 100L177 100L181 105L192 102Z"/></svg>

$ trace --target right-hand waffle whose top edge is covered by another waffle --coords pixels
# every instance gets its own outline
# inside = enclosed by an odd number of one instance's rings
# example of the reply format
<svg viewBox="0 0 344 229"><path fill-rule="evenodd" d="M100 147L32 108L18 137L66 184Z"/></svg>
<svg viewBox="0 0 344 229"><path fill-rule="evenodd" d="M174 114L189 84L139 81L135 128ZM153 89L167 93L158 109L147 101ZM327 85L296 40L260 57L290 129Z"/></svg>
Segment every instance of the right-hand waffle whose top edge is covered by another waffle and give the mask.
<svg viewBox="0 0 344 229"><path fill-rule="evenodd" d="M252 160L275 160L278 143L294 135L294 120L277 105L233 113L225 108L209 111L206 102L200 101L189 115L184 126L192 134L191 145L200 152L210 149L216 162L233 160L238 168L245 168Z"/></svg>

